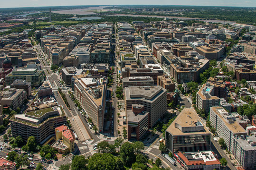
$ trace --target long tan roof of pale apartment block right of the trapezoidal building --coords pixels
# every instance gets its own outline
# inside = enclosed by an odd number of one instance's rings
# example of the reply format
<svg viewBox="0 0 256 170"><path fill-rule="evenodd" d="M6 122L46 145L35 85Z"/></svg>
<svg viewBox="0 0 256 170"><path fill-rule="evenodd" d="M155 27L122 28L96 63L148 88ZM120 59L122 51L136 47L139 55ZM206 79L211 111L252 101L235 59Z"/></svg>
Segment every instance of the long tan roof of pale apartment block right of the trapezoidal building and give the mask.
<svg viewBox="0 0 256 170"><path fill-rule="evenodd" d="M234 134L236 133L247 133L247 131L239 125L237 121L233 121L233 123L228 123L227 119L224 117L228 112L223 107L211 107L212 111L214 111L218 117L225 123L229 130L231 130Z"/></svg>

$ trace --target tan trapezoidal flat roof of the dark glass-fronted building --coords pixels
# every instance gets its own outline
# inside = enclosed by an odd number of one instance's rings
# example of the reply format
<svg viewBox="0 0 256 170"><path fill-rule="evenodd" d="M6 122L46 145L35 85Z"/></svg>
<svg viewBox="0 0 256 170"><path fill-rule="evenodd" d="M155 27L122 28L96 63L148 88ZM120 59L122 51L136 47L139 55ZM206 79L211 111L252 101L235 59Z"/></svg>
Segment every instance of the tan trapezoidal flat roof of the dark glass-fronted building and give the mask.
<svg viewBox="0 0 256 170"><path fill-rule="evenodd" d="M204 131L182 132L179 128L175 127L175 123L179 124L181 127L196 127L196 122L201 123L200 125L204 127ZM171 125L166 129L166 131L168 131L174 136L210 134L208 128L202 122L203 121L199 118L198 114L194 109L184 108L180 112L178 117L174 119Z"/></svg>

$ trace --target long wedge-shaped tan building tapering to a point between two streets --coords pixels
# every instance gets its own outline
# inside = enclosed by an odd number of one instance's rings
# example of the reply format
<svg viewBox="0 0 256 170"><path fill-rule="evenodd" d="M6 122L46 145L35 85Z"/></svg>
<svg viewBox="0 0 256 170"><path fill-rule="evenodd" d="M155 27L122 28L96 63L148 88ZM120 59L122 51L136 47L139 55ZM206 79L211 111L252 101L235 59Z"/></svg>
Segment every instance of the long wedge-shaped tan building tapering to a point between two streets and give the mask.
<svg viewBox="0 0 256 170"><path fill-rule="evenodd" d="M74 82L76 99L92 119L99 132L103 132L106 85L103 78L77 78Z"/></svg>

